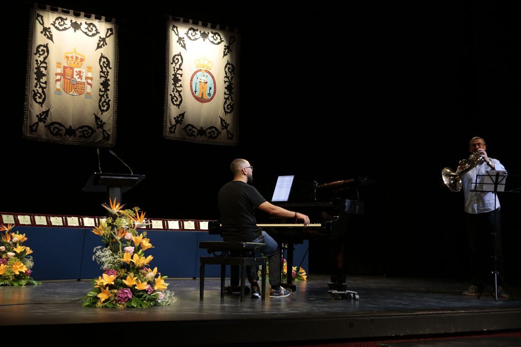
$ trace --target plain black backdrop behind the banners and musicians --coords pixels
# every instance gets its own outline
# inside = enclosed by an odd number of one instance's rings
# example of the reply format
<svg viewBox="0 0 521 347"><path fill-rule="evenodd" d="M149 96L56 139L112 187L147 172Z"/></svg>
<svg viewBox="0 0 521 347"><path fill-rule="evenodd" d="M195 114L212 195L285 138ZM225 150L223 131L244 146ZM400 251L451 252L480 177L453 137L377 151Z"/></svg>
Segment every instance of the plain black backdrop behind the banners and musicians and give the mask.
<svg viewBox="0 0 521 347"><path fill-rule="evenodd" d="M266 195L279 174L319 183L367 176L366 214L353 232L350 273L464 277L463 197L444 166L482 136L491 157L519 165L519 21L502 3L229 8L147 2L147 8L54 1L119 22L117 143L146 179L125 195L151 217L214 219L229 162L255 165ZM82 7L79 7L82 6ZM31 4L5 10L0 211L102 215L82 187L93 147L22 138ZM238 27L242 35L240 144L162 137L167 15ZM145 72L146 71L146 72ZM126 172L101 149L105 172ZM514 183L515 177L509 177ZM517 185L521 183L517 178ZM506 277L519 280L520 196L502 195ZM312 271L324 250L315 246Z"/></svg>

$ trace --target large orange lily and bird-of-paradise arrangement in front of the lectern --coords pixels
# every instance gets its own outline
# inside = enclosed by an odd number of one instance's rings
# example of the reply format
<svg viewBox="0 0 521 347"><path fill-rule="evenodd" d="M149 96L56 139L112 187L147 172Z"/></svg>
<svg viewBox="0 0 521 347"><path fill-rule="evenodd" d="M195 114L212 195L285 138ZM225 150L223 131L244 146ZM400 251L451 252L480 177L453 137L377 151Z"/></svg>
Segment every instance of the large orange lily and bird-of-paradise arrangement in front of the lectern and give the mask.
<svg viewBox="0 0 521 347"><path fill-rule="evenodd" d="M145 213L137 207L123 210L125 205L116 203L116 198L102 206L115 218L107 218L92 230L107 247L94 248L92 259L101 265L103 275L92 281L94 288L83 298L83 306L145 308L171 304L175 298L173 292L166 290L167 276L161 276L157 267L151 269L154 257L144 254L154 246L146 232L137 231L148 224Z"/></svg>

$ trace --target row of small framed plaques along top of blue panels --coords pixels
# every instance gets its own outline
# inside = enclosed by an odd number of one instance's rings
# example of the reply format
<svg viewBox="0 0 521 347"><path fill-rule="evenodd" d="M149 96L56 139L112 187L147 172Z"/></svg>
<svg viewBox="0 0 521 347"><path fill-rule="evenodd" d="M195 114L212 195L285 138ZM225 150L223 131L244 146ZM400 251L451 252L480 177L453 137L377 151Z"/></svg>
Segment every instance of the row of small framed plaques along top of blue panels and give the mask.
<svg viewBox="0 0 521 347"><path fill-rule="evenodd" d="M80 217L80 216L53 216L37 214L7 214L0 213L0 224L15 224L19 226L57 226L89 228L97 227L105 217ZM148 225L141 229L164 230L208 230L208 221L180 221L166 219L147 220Z"/></svg>

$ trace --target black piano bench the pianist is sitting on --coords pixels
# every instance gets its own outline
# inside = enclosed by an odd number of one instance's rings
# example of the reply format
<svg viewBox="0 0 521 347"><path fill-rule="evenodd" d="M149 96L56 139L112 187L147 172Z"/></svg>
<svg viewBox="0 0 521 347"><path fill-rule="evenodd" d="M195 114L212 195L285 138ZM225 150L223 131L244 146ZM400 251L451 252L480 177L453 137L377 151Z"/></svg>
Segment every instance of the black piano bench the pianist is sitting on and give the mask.
<svg viewBox="0 0 521 347"><path fill-rule="evenodd" d="M205 265L220 265L221 266L221 299L225 297L225 276L226 265L240 266L241 274L241 302L244 301L244 287L246 277L246 266L262 266L262 288L261 300L265 300L266 294L266 259L255 258L257 253L264 243L256 242L241 242L241 241L206 241L199 243L199 248L206 249L208 253L213 253L214 256L202 256L200 258L200 279L199 279L199 299L203 301L204 298L204 269ZM220 252L217 254L217 252ZM240 253L241 256L231 256L231 253Z"/></svg>

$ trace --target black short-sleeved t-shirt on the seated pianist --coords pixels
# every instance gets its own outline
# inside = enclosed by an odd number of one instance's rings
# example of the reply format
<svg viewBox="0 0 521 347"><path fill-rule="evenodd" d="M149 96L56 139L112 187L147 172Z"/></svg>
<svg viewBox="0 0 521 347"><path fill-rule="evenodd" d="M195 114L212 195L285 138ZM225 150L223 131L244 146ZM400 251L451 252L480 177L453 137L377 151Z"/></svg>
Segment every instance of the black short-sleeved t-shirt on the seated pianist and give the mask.
<svg viewBox="0 0 521 347"><path fill-rule="evenodd" d="M219 190L217 203L226 241L253 241L262 235L254 210L266 199L258 190L242 181L231 181Z"/></svg>

